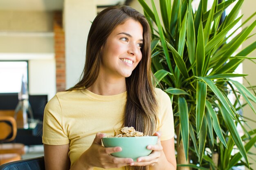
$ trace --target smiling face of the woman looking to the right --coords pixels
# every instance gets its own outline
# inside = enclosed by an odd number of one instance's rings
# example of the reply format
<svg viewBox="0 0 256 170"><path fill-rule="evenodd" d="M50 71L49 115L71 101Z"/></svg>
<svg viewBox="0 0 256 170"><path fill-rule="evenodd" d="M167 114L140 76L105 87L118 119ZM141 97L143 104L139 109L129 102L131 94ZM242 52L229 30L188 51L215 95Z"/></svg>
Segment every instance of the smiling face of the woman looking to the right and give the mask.
<svg viewBox="0 0 256 170"><path fill-rule="evenodd" d="M142 25L128 19L117 26L107 38L101 50L101 71L105 76L129 77L141 60L143 43Z"/></svg>

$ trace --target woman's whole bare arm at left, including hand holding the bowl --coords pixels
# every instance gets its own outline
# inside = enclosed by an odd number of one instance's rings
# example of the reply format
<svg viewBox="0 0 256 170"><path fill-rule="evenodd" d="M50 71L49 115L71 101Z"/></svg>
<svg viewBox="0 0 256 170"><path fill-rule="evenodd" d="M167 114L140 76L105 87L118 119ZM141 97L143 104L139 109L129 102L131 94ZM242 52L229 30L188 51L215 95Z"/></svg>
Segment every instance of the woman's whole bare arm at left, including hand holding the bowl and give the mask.
<svg viewBox="0 0 256 170"><path fill-rule="evenodd" d="M120 152L121 148L101 146L101 138L105 135L97 133L90 148L83 152L71 168L70 158L68 157L69 144L58 146L44 144L45 170L92 170L94 167L119 168L132 163L131 158L117 158L109 155L113 152Z"/></svg>

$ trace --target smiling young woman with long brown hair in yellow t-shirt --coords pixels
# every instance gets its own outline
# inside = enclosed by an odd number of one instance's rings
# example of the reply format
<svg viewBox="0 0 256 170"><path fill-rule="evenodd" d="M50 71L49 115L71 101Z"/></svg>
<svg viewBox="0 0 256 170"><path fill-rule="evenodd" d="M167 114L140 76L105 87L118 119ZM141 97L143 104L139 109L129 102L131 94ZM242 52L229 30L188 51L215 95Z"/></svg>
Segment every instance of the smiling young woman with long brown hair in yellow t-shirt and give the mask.
<svg viewBox="0 0 256 170"><path fill-rule="evenodd" d="M81 81L57 93L44 114L46 170L175 170L174 127L168 95L154 87L150 27L127 6L97 15L88 35ZM101 138L133 126L156 135L153 152L137 161L110 155Z"/></svg>

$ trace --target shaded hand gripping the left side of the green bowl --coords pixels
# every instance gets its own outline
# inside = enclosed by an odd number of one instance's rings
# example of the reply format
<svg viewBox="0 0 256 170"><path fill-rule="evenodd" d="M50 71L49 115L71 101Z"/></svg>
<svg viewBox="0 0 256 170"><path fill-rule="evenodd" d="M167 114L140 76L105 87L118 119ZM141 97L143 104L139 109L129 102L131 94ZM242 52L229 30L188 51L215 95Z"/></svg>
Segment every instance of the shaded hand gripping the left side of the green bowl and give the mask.
<svg viewBox="0 0 256 170"><path fill-rule="evenodd" d="M93 167L120 168L130 165L133 162L131 158L118 158L110 155L114 152L120 152L121 147L105 148L101 146L101 138L105 135L104 133L97 133L92 145L81 155L79 161L84 163L84 167L88 167L89 170Z"/></svg>

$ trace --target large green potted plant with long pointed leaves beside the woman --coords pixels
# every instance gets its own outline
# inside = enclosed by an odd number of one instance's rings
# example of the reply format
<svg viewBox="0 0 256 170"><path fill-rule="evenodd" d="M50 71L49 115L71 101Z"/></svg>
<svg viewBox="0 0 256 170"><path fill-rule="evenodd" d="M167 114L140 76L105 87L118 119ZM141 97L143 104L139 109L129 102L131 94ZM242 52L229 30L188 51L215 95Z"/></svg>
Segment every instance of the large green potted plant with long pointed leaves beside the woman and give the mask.
<svg viewBox="0 0 256 170"><path fill-rule="evenodd" d="M256 49L256 41L234 55L250 38L256 21L227 41L236 30L231 35L228 32L242 18L237 16L244 0L219 4L214 0L208 11L207 0L201 0L196 11L191 0L159 0L162 23L154 0L153 9L144 0L138 1L152 30L152 70L173 103L178 168L249 167L248 151L255 146L256 130L245 129L247 120L239 111L248 104L256 113L252 106L256 93L232 78L246 76L234 73L243 60L256 59L248 57ZM233 2L236 5L220 23L223 11ZM238 134L238 124L243 137ZM239 152L232 155L234 147Z"/></svg>

